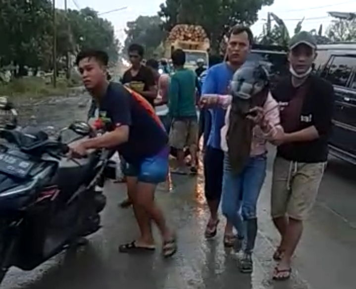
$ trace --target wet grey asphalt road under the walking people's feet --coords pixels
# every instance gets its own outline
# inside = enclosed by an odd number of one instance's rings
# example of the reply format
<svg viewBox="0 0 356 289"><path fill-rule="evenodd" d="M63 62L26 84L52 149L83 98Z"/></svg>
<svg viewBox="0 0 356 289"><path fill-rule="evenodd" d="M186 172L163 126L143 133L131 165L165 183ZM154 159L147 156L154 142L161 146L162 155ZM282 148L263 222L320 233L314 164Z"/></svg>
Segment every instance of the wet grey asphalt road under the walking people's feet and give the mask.
<svg viewBox="0 0 356 289"><path fill-rule="evenodd" d="M83 101L85 97L83 96ZM76 100L68 100L75 103ZM67 102L68 103L68 102ZM84 116L84 106L70 112L44 105L42 117L54 117L59 127ZM68 107L68 106L67 106ZM65 115L65 119L56 118ZM49 125L48 118L43 118ZM51 124L50 124L51 125ZM172 190L166 184L157 189L169 223L178 234L179 251L162 260L158 232L157 252L152 255L118 253L118 244L132 241L137 227L131 209L117 203L125 197L125 185L107 182L108 204L102 213L103 228L90 238L90 245L77 252L63 252L32 272L11 269L3 289L355 289L356 268L356 167L330 158L318 200L305 223L303 240L294 258L290 281L271 280L272 254L278 236L269 219L271 179L268 174L258 205L259 234L254 252L254 273L237 269L237 256L222 245L223 226L214 240L203 237L208 218L203 197L203 177L172 176ZM223 218L221 218L223 219Z"/></svg>

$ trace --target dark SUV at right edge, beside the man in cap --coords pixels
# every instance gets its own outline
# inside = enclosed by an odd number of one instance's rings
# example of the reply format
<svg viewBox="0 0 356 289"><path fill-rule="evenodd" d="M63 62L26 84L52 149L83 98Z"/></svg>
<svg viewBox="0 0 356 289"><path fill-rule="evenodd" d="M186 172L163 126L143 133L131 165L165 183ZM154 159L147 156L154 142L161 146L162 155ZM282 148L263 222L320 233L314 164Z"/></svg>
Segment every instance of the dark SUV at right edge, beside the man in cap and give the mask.
<svg viewBox="0 0 356 289"><path fill-rule="evenodd" d="M319 45L315 72L335 89L330 153L356 164L356 43Z"/></svg>

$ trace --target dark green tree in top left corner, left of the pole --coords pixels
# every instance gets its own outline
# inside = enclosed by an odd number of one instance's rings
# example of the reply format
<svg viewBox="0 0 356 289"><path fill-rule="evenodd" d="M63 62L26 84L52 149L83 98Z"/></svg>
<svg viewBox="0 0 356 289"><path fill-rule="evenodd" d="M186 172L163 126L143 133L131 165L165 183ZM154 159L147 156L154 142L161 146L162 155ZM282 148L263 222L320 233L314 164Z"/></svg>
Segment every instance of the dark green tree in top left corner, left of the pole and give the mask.
<svg viewBox="0 0 356 289"><path fill-rule="evenodd" d="M51 1L11 0L0 2L0 65L11 62L19 67L39 66L48 51L47 35L51 33Z"/></svg>

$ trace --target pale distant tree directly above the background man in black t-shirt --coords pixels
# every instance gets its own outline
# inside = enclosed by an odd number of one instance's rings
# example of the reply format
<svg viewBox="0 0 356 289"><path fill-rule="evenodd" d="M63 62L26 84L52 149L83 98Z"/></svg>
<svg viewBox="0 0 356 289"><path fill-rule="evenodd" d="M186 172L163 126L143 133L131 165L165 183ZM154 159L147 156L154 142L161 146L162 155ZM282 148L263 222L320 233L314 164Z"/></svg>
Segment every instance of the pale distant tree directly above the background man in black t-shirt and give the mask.
<svg viewBox="0 0 356 289"><path fill-rule="evenodd" d="M127 22L127 35L124 49L130 44L141 44L146 48L146 55L152 57L157 47L162 43L165 32L158 16L139 16L135 21Z"/></svg>

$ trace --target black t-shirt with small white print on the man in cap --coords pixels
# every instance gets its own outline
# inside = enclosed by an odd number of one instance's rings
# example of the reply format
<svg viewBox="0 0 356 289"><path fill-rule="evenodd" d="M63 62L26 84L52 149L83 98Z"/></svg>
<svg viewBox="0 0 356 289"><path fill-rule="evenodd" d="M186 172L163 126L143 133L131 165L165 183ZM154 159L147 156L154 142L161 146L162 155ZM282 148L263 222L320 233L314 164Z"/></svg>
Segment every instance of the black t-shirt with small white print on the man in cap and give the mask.
<svg viewBox="0 0 356 289"><path fill-rule="evenodd" d="M326 161L334 108L331 83L310 75L304 85L295 88L289 76L276 85L272 95L280 105L281 125L285 132L315 126L320 136L313 141L282 144L277 147L277 156L305 163Z"/></svg>

